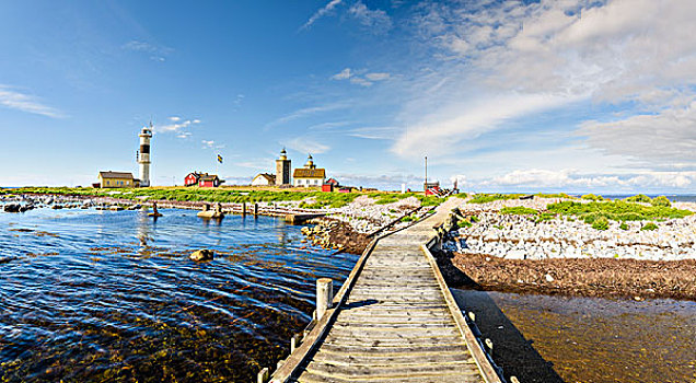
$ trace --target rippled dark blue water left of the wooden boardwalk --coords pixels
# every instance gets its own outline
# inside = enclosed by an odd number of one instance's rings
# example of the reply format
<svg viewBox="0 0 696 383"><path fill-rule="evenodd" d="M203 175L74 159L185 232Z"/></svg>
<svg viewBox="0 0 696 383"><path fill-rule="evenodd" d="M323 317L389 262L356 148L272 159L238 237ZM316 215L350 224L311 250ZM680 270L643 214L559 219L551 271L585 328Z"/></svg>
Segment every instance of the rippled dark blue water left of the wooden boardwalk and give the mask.
<svg viewBox="0 0 696 383"><path fill-rule="evenodd" d="M357 259L272 218L162 212L0 213L0 381L252 381Z"/></svg>

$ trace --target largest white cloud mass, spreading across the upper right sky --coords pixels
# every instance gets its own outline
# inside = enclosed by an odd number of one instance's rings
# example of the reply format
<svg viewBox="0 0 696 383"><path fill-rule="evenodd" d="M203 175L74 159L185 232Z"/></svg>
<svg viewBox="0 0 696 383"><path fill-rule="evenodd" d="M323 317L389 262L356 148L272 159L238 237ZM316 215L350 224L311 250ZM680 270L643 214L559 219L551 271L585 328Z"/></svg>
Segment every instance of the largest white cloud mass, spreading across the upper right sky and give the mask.
<svg viewBox="0 0 696 383"><path fill-rule="evenodd" d="M696 2L482 0L421 9L411 22L428 59L397 118L397 154L466 161L462 148L486 132L517 126L534 135L535 127L513 123L592 101L619 111L630 104L622 120L581 126L588 153L693 163L696 39L687 36L696 34ZM575 128L556 130L578 141Z"/></svg>

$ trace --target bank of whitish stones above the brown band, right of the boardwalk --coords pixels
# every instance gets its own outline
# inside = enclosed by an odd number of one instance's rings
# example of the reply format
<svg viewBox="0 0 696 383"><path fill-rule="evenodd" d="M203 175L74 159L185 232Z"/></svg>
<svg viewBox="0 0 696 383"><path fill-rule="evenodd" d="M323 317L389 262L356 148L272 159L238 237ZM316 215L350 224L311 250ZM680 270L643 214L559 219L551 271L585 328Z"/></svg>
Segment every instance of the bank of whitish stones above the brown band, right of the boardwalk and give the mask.
<svg viewBox="0 0 696 383"><path fill-rule="evenodd" d="M452 249L506 259L696 259L696 216L657 222L657 230L641 230L646 222L640 221L625 222L626 230L619 227L619 222L610 222L607 230L595 230L581 220L568 217L535 222L526 216L495 212L504 206L544 210L547 202L511 200L480 206L476 214L478 222L459 230L456 235L460 241ZM463 206L462 210L476 212L472 205ZM681 207L693 209L685 204Z"/></svg>

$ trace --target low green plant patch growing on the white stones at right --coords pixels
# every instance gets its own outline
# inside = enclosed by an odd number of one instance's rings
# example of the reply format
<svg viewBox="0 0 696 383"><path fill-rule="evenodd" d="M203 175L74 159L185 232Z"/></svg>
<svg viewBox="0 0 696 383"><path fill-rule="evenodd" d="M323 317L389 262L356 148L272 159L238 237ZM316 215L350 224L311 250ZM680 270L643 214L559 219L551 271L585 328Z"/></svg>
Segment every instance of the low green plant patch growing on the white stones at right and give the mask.
<svg viewBox="0 0 696 383"><path fill-rule="evenodd" d="M548 205L548 210L562 216L577 216L585 223L594 223L604 218L611 221L643 221L691 216L688 210L680 210L664 206L645 206L622 200L606 202L564 201Z"/></svg>

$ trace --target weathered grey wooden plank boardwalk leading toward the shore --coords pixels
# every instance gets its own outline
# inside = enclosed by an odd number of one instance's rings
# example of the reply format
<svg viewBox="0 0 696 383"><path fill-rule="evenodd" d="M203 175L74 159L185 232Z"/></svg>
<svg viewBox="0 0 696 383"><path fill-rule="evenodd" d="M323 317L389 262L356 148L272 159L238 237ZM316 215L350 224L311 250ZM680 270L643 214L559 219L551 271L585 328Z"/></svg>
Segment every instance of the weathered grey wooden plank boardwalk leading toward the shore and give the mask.
<svg viewBox="0 0 696 383"><path fill-rule="evenodd" d="M272 382L500 382L428 251L449 205L366 251Z"/></svg>

